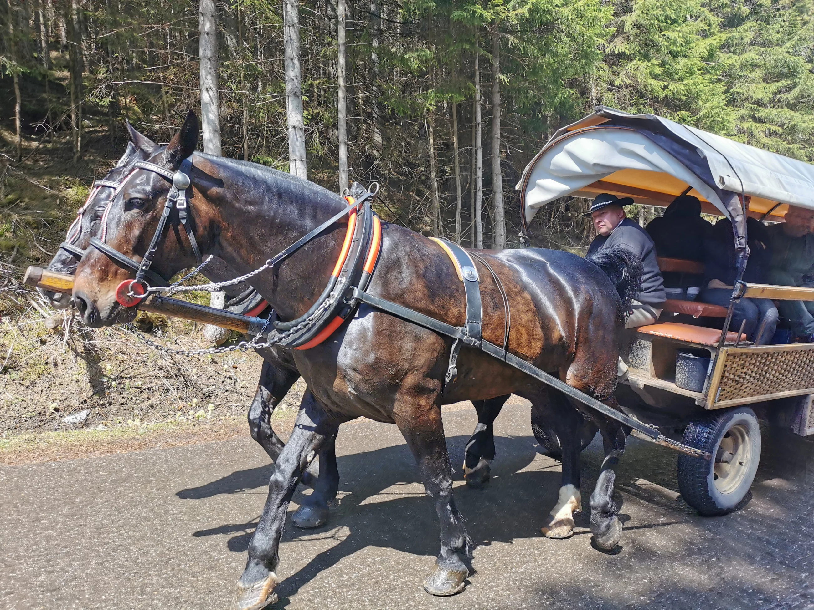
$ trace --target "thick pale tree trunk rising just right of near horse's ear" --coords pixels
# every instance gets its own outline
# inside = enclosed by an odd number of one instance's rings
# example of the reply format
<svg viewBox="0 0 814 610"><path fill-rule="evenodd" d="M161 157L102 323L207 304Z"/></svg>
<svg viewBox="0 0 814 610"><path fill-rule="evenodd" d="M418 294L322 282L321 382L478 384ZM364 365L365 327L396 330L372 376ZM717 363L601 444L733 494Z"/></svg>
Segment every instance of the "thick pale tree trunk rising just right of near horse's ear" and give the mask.
<svg viewBox="0 0 814 610"><path fill-rule="evenodd" d="M217 5L200 0L200 90L204 152L221 156L221 119L217 98Z"/></svg>

